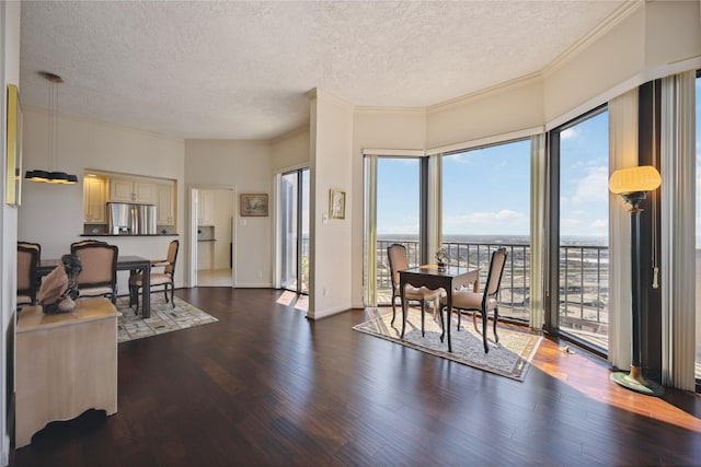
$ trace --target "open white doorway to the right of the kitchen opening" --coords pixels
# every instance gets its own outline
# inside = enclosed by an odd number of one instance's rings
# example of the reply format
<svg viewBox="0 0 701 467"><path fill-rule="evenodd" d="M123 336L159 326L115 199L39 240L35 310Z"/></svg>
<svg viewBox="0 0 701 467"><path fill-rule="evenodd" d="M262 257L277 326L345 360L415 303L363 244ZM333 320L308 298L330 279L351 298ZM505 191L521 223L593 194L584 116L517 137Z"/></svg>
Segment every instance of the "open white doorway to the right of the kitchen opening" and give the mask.
<svg viewBox="0 0 701 467"><path fill-rule="evenodd" d="M193 188L191 220L193 287L233 287L235 192L233 188Z"/></svg>

